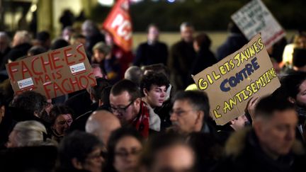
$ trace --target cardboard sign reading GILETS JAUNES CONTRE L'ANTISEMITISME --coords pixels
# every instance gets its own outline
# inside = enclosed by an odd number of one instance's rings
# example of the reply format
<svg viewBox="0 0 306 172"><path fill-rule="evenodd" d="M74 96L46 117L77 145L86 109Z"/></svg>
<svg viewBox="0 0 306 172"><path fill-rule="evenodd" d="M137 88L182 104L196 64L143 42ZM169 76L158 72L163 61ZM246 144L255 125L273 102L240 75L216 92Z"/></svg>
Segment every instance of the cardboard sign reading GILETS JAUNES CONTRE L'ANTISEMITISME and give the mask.
<svg viewBox="0 0 306 172"><path fill-rule="evenodd" d="M208 93L210 115L217 125L243 115L251 97L268 95L280 86L260 35L193 80L199 90Z"/></svg>

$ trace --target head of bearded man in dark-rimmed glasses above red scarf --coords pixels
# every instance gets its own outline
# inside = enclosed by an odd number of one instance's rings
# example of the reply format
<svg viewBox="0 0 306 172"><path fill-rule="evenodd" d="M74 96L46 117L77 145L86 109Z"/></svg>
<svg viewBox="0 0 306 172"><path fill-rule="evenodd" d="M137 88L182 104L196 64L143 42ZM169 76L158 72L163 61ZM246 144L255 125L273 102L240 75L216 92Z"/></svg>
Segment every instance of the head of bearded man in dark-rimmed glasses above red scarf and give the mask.
<svg viewBox="0 0 306 172"><path fill-rule="evenodd" d="M135 83L128 79L118 81L111 88L111 111L123 125L135 119L140 112L141 94Z"/></svg>

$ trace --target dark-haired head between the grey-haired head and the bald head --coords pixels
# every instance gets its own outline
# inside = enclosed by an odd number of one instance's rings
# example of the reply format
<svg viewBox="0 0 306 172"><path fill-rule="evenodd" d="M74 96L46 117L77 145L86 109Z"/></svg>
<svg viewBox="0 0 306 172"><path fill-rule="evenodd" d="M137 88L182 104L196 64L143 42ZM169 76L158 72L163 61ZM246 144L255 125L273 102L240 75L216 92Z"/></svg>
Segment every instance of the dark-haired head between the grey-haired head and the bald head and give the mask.
<svg viewBox="0 0 306 172"><path fill-rule="evenodd" d="M52 117L52 132L57 136L64 136L73 122L73 112L67 105L55 105L50 111Z"/></svg>

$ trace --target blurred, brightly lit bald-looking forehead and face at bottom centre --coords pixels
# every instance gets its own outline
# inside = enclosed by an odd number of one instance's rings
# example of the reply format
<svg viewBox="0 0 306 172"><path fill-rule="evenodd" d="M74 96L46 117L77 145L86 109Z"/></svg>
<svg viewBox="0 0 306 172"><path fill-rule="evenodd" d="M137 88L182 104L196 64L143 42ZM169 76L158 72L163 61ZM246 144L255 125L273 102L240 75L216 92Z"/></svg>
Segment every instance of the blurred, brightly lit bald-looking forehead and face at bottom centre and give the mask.
<svg viewBox="0 0 306 172"><path fill-rule="evenodd" d="M195 161L193 151L183 145L162 149L154 159L152 172L192 171Z"/></svg>

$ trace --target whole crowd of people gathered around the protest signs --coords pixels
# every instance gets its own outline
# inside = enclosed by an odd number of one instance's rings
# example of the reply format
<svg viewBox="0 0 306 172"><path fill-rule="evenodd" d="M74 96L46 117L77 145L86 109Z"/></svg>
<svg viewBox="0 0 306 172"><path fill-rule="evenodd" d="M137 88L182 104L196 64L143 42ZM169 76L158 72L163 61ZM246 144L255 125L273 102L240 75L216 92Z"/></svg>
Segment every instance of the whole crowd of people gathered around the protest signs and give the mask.
<svg viewBox="0 0 306 172"><path fill-rule="evenodd" d="M0 171L304 171L306 34L268 48L281 86L220 126L210 97L188 87L191 75L247 40L230 23L215 55L208 34L194 36L188 22L179 29L169 48L149 25L135 53L89 20L52 41L46 31L18 30L12 42L0 32ZM80 43L96 86L52 99L13 93L5 64Z"/></svg>

